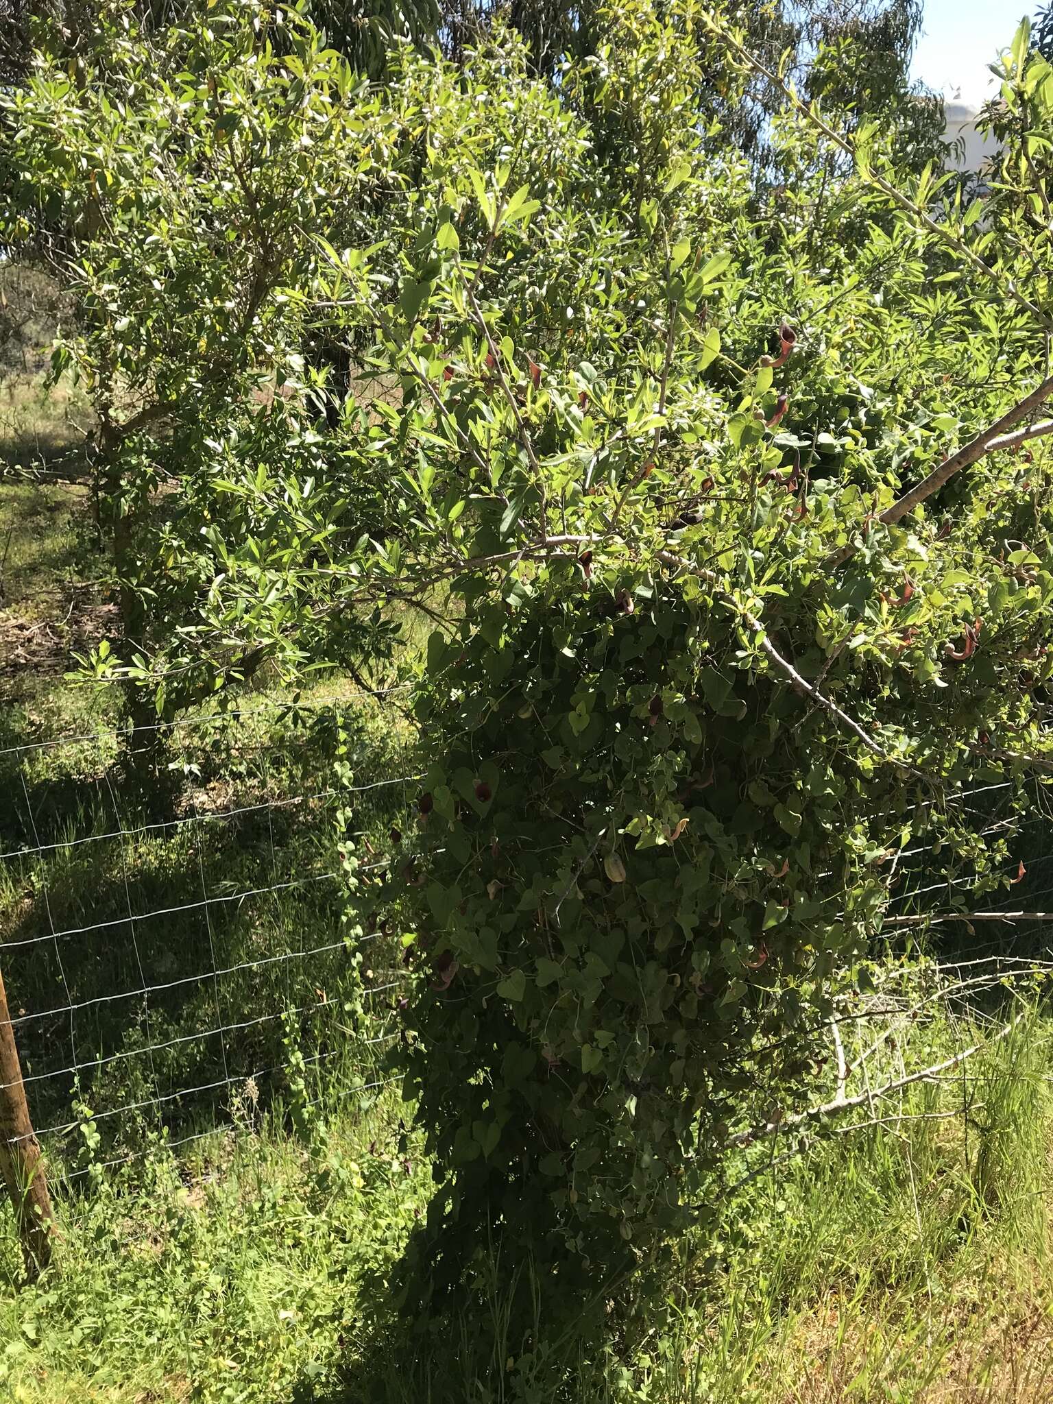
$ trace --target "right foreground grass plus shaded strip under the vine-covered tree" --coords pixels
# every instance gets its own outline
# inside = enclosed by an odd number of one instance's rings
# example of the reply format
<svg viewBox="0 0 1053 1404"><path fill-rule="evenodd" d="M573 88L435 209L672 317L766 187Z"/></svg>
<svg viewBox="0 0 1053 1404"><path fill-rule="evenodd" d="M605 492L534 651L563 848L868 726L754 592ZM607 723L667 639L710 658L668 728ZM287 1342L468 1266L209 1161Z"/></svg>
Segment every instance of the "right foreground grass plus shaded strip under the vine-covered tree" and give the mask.
<svg viewBox="0 0 1053 1404"><path fill-rule="evenodd" d="M924 1067L990 1032L981 1014L941 1008L890 1061ZM511 1273L529 1268L494 1259L484 1276L498 1344L486 1358L459 1321L445 1351L431 1339L365 1383L350 1372L347 1398L1053 1398L1052 1047L1053 1024L1032 1009L952 1075L915 1084L880 1116L831 1123L804 1154L750 1179L722 1200L715 1233L681 1245L664 1310L650 1304L661 1324L629 1359L614 1348L574 1358L571 1323L571 1363L553 1373L532 1332L501 1332Z"/></svg>

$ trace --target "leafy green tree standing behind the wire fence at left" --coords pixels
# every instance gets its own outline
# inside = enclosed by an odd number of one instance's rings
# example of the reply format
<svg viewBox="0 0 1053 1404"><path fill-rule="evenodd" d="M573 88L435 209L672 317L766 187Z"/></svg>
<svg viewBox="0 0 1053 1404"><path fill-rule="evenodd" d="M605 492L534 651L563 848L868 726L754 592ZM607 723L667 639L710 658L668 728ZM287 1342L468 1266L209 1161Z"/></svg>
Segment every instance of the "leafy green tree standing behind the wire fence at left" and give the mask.
<svg viewBox="0 0 1053 1404"><path fill-rule="evenodd" d="M344 608L386 511L376 434L350 411L323 444L305 348L313 232L371 241L403 133L296 13L234 4L159 38L115 7L94 52L3 100L4 236L76 306L53 369L95 410L122 604L95 671L170 716L265 657L312 661L319 629L326 660L383 646Z"/></svg>

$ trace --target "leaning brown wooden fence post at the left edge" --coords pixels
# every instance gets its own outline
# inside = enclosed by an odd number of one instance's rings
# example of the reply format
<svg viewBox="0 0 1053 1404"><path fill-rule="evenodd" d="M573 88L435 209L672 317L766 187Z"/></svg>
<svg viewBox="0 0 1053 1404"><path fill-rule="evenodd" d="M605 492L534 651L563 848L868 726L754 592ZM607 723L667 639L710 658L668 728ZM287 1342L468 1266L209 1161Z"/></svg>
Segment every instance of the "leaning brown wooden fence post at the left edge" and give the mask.
<svg viewBox="0 0 1053 1404"><path fill-rule="evenodd" d="M29 1120L22 1070L0 973L0 1171L14 1205L25 1272L32 1280L51 1261L55 1219L41 1144Z"/></svg>

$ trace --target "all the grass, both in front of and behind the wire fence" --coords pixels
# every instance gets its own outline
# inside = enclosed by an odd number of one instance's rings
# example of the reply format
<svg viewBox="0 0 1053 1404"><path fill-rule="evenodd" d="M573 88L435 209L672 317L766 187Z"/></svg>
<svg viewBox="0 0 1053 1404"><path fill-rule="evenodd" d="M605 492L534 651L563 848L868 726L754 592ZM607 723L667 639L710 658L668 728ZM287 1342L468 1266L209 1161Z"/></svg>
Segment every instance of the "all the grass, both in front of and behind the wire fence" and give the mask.
<svg viewBox="0 0 1053 1404"><path fill-rule="evenodd" d="M22 410L32 403L28 393L20 402ZM60 402L41 413L52 414L58 435ZM105 628L105 616L91 614L105 609L105 595L94 584L86 490L51 476L0 480L0 750L93 734L115 709L63 681L77 630ZM392 727L390 713L338 680L319 684L313 701L340 691L355 781L409 774L409 729ZM124 779L112 737L0 757L8 802L0 852L15 851L0 861L13 1012L81 1005L73 1024L59 1014L18 1025L37 1123L73 1125L46 1137L60 1240L35 1286L20 1282L0 1209L0 1397L1053 1398L1053 1019L1040 991L1028 994L1029 1012L1011 1036L904 1090L889 1116L873 1118L879 1125L859 1125L870 1119L861 1111L851 1130L834 1122L803 1148L783 1137L730 1167L729 1181L743 1184L719 1199L715 1233L680 1245L663 1324L644 1324L618 1358L583 1346L553 1383L511 1335L477 1358L469 1321L427 1344L371 1334L365 1323L431 1175L382 1046L362 1038L378 1011L389 1011L382 1024L390 1016L395 997L359 1012L358 977L340 945L348 906L354 921L344 879L302 882L340 868L334 816L317 796L330 788L334 713L288 713L278 701L268 684L247 701L251 716L173 733L166 764L181 786L164 827L149 827L157 823L150 796ZM350 816L361 856L390 847L388 830L404 804L397 786L361 793ZM125 833L107 837L115 830ZM37 838L66 847L17 852ZM88 841L67 842L74 838ZM299 886L212 906L208 917L188 906L202 893L284 883ZM150 911L161 915L139 915ZM326 943L337 949L300 958ZM385 942L371 946L369 960L366 984L379 983L392 963ZM212 970L229 973L188 979ZM894 1078L983 1040L1005 1018L997 1001L1008 997L991 991L913 1018L910 979L901 977L900 1012L869 1060L863 1033L845 1039L854 1087L863 1067L875 1084ZM105 998L143 983L163 988L145 1001ZM202 1036L220 1024L243 1026ZM88 1066L74 1077L63 1071L73 1061ZM828 1084L830 1068L827 1095ZM183 1091L197 1087L205 1090ZM160 1108L105 1115L159 1095L170 1098ZM799 1153L783 1160L788 1147ZM768 1155L778 1158L765 1167ZM508 1272L490 1264L498 1321Z"/></svg>

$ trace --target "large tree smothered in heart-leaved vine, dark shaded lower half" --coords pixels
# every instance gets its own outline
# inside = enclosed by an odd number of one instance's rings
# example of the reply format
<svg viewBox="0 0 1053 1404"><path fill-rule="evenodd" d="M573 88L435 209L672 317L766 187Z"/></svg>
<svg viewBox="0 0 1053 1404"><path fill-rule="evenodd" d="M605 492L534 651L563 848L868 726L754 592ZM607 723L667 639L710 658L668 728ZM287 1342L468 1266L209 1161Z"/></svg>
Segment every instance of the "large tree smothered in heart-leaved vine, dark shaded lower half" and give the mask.
<svg viewBox="0 0 1053 1404"><path fill-rule="evenodd" d="M1007 882L962 793L1024 807L1050 765L1050 302L1018 216L959 195L936 220L931 173L904 192L875 126L781 88L803 174L757 222L688 117L695 21L762 67L719 17L619 6L566 88L632 114L621 174L580 119L555 184L466 136L376 312L376 358L420 386L420 570L455 601L388 893L439 1181L416 1261L470 1294L496 1240L562 1318L609 1321L795 1105L896 855ZM473 79L432 105L453 170ZM489 81L503 111L526 79Z"/></svg>

